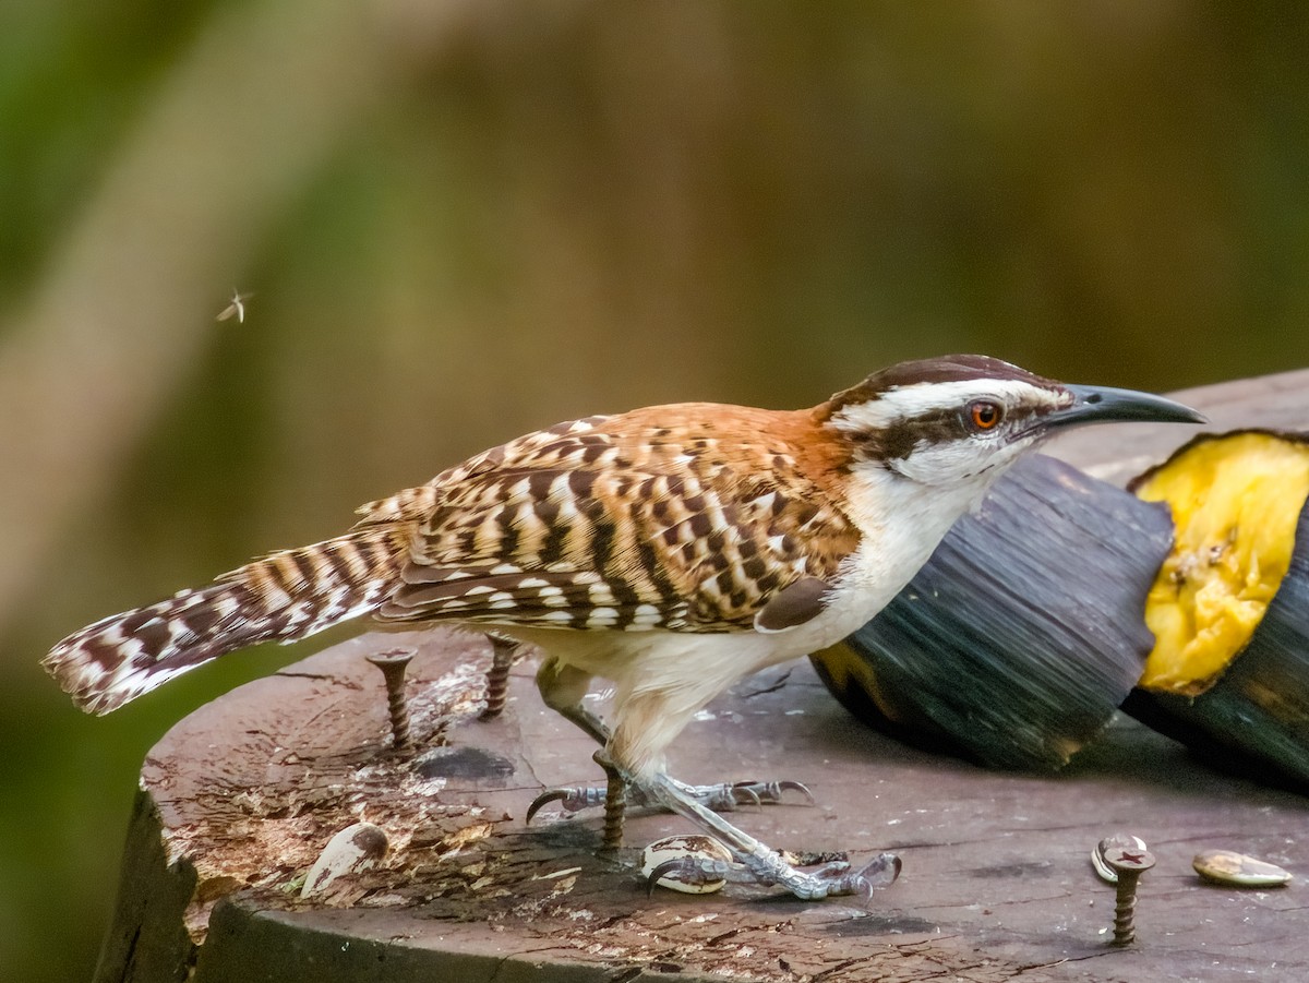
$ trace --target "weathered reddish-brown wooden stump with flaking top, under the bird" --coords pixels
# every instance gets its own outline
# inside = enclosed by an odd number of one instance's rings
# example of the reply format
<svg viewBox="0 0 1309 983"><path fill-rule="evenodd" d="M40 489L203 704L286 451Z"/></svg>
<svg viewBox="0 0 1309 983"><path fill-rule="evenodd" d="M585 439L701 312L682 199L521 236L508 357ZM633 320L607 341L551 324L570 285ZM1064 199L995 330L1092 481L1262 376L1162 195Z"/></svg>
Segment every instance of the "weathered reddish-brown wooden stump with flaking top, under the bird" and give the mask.
<svg viewBox="0 0 1309 983"><path fill-rule="evenodd" d="M1220 428L1302 427L1306 382L1187 395ZM1153 459L1185 438L1165 429L1102 428L1111 442L1076 435L1059 453ZM414 760L387 750L381 677L363 658L397 644L418 649ZM1058 776L996 774L863 728L805 664L771 670L687 729L673 774L804 780L816 806L734 819L772 846L856 863L894 849L901 881L867 910L746 886L647 898L637 848L685 822L630 817L617 861L597 856L598 815L547 810L525 827L542 788L600 772L589 741L541 706L530 664L505 713L476 720L488 661L475 635L365 635L178 724L141 772L98 979L181 979L191 961L198 983L1309 979L1309 800L1215 772L1128 721ZM424 757L442 726L448 747ZM297 878L360 818L386 830L386 857L301 901ZM1158 857L1128 950L1107 944L1114 895L1088 863L1118 830ZM1299 877L1264 891L1203 885L1190 859L1215 846Z"/></svg>

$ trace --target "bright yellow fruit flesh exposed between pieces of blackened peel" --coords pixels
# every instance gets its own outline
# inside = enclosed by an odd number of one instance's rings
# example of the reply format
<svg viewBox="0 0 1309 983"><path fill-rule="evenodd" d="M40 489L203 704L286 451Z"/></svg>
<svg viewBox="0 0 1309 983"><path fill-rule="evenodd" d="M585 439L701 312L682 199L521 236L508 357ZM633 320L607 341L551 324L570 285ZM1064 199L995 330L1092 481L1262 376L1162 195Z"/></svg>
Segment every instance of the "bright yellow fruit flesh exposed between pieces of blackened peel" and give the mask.
<svg viewBox="0 0 1309 983"><path fill-rule="evenodd" d="M1173 509L1177 541L1145 601L1140 685L1195 696L1250 640L1291 565L1309 446L1267 433L1196 444L1136 488Z"/></svg>

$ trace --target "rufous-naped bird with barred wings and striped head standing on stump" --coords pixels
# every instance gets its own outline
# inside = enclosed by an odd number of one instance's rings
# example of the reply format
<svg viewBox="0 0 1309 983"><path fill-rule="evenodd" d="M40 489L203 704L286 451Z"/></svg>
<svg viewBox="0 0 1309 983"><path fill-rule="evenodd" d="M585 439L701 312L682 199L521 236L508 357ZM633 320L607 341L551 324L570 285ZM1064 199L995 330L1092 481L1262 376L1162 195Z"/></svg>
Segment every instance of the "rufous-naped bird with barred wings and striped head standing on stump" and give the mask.
<svg viewBox="0 0 1309 983"><path fill-rule="evenodd" d="M897 857L801 870L670 776L666 747L740 679L868 622L1045 438L1124 420L1204 418L982 355L891 365L805 410L586 416L369 503L343 535L98 620L43 665L106 713L226 652L364 615L491 631L541 649L541 696L601 745L611 793L699 825L746 880L868 894ZM583 703L596 678L614 691L607 719Z"/></svg>

